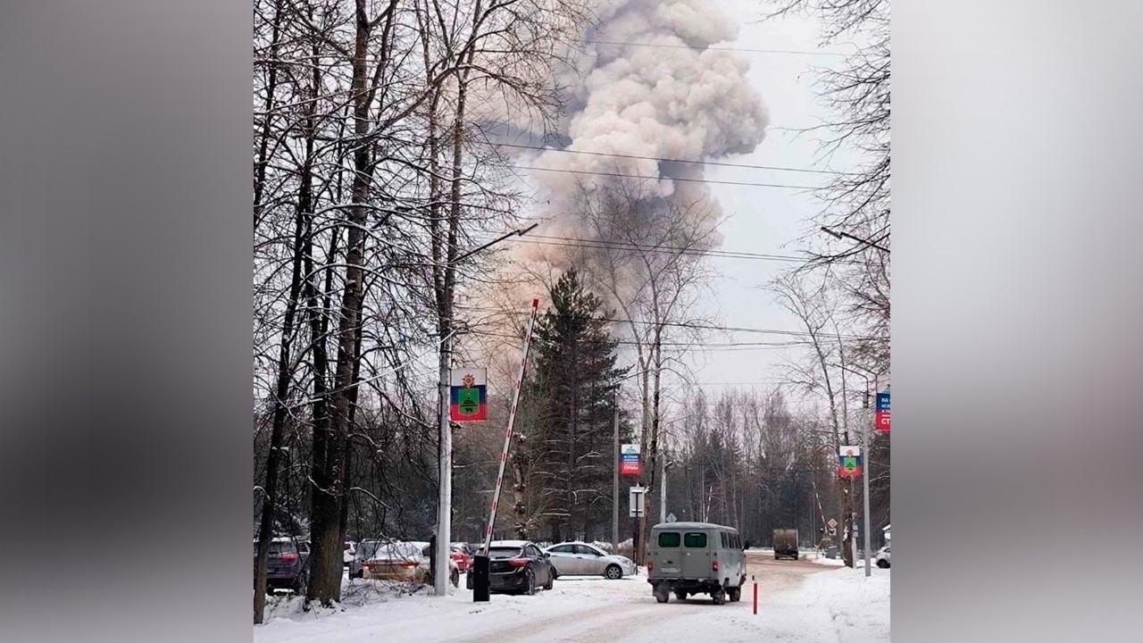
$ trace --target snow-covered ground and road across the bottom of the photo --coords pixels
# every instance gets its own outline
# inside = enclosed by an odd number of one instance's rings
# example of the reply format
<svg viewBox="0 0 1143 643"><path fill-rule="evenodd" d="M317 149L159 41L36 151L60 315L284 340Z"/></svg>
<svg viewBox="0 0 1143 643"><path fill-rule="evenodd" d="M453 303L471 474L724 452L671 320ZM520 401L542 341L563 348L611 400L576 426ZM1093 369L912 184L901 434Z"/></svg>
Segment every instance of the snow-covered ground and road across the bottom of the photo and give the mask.
<svg viewBox="0 0 1143 643"><path fill-rule="evenodd" d="M714 605L702 596L658 604L646 575L621 580L561 578L535 596L495 594L473 603L472 593L450 588L446 597L413 594L409 586L357 580L346 584L339 610L303 613L297 598L279 596L255 642L274 643L465 643L525 641L644 643L689 641L880 643L889 641L889 570L870 578L855 570L805 577L796 589L760 596L751 613L751 586L742 602Z"/></svg>

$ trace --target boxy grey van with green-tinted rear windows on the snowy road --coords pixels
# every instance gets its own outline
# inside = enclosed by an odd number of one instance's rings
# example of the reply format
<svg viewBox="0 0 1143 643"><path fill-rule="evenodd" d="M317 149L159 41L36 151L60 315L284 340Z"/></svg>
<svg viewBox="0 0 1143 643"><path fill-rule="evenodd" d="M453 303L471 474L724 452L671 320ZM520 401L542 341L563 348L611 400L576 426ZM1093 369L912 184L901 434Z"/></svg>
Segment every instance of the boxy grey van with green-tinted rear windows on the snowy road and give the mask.
<svg viewBox="0 0 1143 643"><path fill-rule="evenodd" d="M710 594L716 605L742 598L746 557L734 527L711 523L660 523L650 530L647 582L660 603Z"/></svg>

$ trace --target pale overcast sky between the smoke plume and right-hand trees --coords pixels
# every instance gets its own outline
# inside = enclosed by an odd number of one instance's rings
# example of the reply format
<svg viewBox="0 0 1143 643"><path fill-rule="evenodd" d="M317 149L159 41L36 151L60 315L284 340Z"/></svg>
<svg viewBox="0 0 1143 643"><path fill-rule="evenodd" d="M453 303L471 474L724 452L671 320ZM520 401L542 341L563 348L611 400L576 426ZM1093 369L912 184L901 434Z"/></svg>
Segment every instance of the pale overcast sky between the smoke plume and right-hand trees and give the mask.
<svg viewBox="0 0 1143 643"><path fill-rule="evenodd" d="M741 23L737 41L727 45L741 49L781 49L793 51L838 51L818 46L816 21L785 18L759 24L760 2L757 0L720 0L719 7ZM754 24L751 24L754 23ZM727 162L767 165L790 168L822 168L818 145L813 135L794 130L818 125L829 111L816 100L812 65L829 65L837 56L813 54L776 54L742 51L751 63L750 82L761 95L770 116L765 141L746 156ZM839 162L840 161L840 162ZM833 168L846 159L836 157ZM711 181L757 182L790 185L818 185L823 175L800 172L748 169L711 166ZM805 190L712 184L712 191L724 208L727 221L722 251L791 255L800 248L797 239L807 230L806 220L820 207ZM788 262L726 259L712 260L721 275L713 285L717 310L725 326L800 331L797 318L774 303L769 293L759 289ZM759 333L734 333L711 343L783 341L789 338ZM781 379L784 356L792 349L761 347L710 348L693 360L701 383L711 392L727 388L726 382L761 383L772 388Z"/></svg>

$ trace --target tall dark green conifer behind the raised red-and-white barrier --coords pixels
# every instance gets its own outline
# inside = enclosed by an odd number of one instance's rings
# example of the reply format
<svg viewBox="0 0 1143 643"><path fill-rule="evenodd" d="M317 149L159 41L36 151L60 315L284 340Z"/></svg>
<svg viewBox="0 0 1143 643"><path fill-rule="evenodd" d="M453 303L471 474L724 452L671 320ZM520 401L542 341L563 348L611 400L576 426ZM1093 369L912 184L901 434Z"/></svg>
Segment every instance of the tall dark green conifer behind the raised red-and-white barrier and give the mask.
<svg viewBox="0 0 1143 643"><path fill-rule="evenodd" d="M552 542L609 533L616 347L614 313L588 291L575 269L552 287L551 307L537 319L529 382L536 424L528 455L539 465L530 484ZM543 532L541 532L543 533Z"/></svg>

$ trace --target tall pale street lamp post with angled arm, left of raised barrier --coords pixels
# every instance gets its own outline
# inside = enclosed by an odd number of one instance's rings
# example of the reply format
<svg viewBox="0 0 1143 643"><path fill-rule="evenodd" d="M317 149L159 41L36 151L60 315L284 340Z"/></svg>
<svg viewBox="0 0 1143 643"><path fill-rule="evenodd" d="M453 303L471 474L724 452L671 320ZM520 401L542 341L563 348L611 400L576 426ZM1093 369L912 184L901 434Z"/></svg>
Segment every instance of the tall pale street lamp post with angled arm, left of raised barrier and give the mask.
<svg viewBox="0 0 1143 643"><path fill-rule="evenodd" d="M440 339L440 381L438 382L438 406L440 412L439 427L440 435L438 436L438 493L437 493L437 533L435 533L435 547L433 549L433 556L431 561L433 571L433 595L434 596L447 596L448 595L448 558L450 551L450 545L453 542L453 424L449 420L449 386L450 386L450 372L453 367L453 340L456 333L455 320L453 319L453 277L455 275L456 267L464 260L482 252L491 246L507 239L509 237L522 237L527 232L534 230L538 223L534 223L527 228L521 228L519 230L513 230L506 235L497 237L487 244L475 247L464 254L461 254L448 262L445 267L446 271L446 286L445 286L445 301L442 302L443 309L438 310L438 313L445 317L446 324L442 327L448 328L448 334Z"/></svg>

